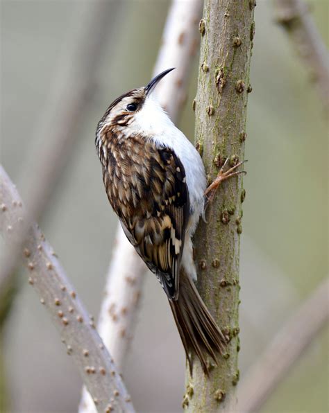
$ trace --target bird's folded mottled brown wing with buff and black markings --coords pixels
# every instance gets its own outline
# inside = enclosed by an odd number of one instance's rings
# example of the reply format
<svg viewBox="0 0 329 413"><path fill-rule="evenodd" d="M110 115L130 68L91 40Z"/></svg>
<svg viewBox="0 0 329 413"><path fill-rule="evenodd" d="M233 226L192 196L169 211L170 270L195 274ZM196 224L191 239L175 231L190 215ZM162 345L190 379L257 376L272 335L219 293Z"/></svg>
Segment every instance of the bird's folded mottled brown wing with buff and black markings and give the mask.
<svg viewBox="0 0 329 413"><path fill-rule="evenodd" d="M126 161L129 165L124 166L124 173L122 168L118 172L117 166L112 171L112 179L116 175L119 179L111 185L112 191L117 186L117 193L108 195L128 240L158 277L169 299L175 300L189 216L185 170L169 148L144 143L141 152L138 147L135 141L128 148L131 162ZM125 188L122 193L121 188Z"/></svg>

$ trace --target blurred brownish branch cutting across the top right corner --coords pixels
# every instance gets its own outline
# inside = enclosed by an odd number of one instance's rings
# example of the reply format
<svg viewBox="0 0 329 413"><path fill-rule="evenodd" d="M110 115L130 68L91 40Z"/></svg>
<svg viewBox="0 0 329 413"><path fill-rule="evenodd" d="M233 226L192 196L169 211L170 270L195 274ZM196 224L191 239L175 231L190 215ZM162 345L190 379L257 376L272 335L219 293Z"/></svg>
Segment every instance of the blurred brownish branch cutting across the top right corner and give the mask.
<svg viewBox="0 0 329 413"><path fill-rule="evenodd" d="M274 0L277 19L310 70L323 106L329 109L329 56L326 45L303 0Z"/></svg>

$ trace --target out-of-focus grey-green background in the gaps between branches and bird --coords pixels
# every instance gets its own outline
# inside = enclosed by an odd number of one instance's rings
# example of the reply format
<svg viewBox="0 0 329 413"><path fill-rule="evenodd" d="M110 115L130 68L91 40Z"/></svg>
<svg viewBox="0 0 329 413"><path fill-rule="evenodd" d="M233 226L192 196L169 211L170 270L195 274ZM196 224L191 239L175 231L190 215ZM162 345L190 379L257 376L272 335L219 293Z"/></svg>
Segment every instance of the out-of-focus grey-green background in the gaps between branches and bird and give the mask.
<svg viewBox="0 0 329 413"><path fill-rule="evenodd" d="M81 72L68 51L90 5L80 0L1 0L1 163L24 197L33 160L47 141L47 134L36 138L37 130L58 73L65 76L66 70L79 76ZM328 46L328 1L314 0L310 7ZM162 0L112 2L112 15L106 20L108 37L94 69L93 93L87 96L69 161L40 222L95 316L117 219L103 189L94 132L112 100L150 80L168 8L169 1ZM305 67L274 17L273 3L259 0L241 238L242 379L294 308L328 274L328 124ZM192 140L198 62L196 56L179 121ZM74 93L68 87L66 93L70 92ZM19 277L18 287L1 340L10 410L75 412L81 380L74 364L26 277ZM138 412L181 411L183 346L153 276L145 279L124 380ZM262 409L326 411L328 328Z"/></svg>

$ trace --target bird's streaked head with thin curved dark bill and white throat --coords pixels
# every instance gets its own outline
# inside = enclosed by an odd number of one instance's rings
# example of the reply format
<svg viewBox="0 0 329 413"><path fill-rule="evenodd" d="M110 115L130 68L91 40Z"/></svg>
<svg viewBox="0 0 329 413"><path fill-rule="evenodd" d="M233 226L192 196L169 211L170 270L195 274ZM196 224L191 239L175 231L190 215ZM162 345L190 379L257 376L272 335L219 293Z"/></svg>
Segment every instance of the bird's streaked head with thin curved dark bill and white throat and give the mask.
<svg viewBox="0 0 329 413"><path fill-rule="evenodd" d="M163 122L171 122L153 97L152 91L158 82L172 70L174 68L162 71L145 87L130 90L115 99L99 121L97 135L103 128L110 128L117 133L152 134Z"/></svg>

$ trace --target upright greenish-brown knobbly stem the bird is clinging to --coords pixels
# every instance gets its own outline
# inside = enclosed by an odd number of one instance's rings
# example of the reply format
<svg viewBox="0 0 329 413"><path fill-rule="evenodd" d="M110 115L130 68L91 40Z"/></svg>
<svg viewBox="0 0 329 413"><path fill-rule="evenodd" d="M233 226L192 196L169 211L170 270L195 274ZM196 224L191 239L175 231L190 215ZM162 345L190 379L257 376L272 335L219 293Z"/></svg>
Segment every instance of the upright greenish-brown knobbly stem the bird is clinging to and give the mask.
<svg viewBox="0 0 329 413"><path fill-rule="evenodd" d="M254 7L253 0L205 0L194 107L196 147L203 157L209 181L227 157L231 166L244 158ZM241 176L223 182L208 207L208 223L201 222L196 231L198 288L229 344L227 353L223 358L219 356L219 365L213 365L209 377L203 374L199 361L194 358L192 376L187 370L187 391L183 399L183 406L189 412L231 412L236 407L239 234L244 196Z"/></svg>

